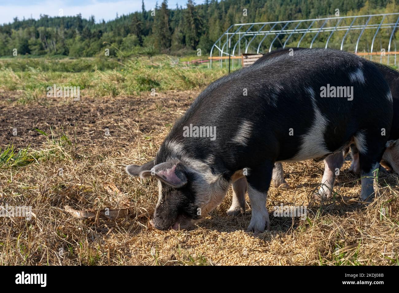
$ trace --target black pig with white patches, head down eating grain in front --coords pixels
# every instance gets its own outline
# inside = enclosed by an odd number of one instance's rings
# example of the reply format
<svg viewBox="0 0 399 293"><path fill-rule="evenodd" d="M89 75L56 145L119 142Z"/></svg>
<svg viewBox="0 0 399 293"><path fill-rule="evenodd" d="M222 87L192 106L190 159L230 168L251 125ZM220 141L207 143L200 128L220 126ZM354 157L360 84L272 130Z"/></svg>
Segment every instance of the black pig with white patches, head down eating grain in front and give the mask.
<svg viewBox="0 0 399 293"><path fill-rule="evenodd" d="M327 86L349 87L351 97L322 98L320 88ZM269 226L266 198L276 161L325 158L354 141L365 176L361 197L369 197L391 122L391 92L373 63L345 51L306 49L211 83L174 124L154 161L126 171L158 179L152 219L157 229L200 221L232 184L235 195L248 189L248 230L263 231ZM233 201L233 211L245 204L245 198Z"/></svg>

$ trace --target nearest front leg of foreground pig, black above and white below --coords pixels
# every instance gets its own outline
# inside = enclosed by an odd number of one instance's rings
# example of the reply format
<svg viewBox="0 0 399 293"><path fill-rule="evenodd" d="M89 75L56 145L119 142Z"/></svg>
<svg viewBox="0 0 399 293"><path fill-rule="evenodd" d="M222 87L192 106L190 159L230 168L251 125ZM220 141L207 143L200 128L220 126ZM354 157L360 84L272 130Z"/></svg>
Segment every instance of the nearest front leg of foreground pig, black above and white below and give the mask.
<svg viewBox="0 0 399 293"><path fill-rule="evenodd" d="M267 162L263 168L252 169L247 176L248 197L251 201L251 222L248 231L263 232L265 226L269 228L269 212L266 208L267 191L270 187L274 163Z"/></svg>

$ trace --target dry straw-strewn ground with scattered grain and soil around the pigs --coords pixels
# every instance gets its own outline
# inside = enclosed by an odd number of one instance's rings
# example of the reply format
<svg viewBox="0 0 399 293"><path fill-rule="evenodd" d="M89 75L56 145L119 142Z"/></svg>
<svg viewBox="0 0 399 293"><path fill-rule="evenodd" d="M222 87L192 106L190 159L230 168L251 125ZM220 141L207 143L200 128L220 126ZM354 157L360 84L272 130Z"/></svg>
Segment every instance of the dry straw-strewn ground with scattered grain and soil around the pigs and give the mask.
<svg viewBox="0 0 399 293"><path fill-rule="evenodd" d="M30 112L32 105L4 102L0 153L10 143L18 149L30 144L30 149L20 154L15 150L0 164L0 205L32 206L36 218L1 219L0 264L399 264L398 177L381 175L377 199L364 206L358 203L359 178L347 171L349 162L338 177L336 198L321 205L310 198L323 163L284 165L291 189L271 187L269 211L280 203L305 205L304 221L273 217L271 212L271 229L254 236L245 232L251 218L249 202L243 216L225 214L231 203L229 191L193 230L162 232L150 227L148 219L158 198L156 183L128 177L123 166L150 160L198 93L164 92L156 97L143 93L78 102L53 99L45 107L33 107L36 115ZM9 135L14 126L18 136ZM105 135L105 128L111 136ZM74 218L66 205L96 216ZM118 220L97 216L106 208L128 208L129 214Z"/></svg>

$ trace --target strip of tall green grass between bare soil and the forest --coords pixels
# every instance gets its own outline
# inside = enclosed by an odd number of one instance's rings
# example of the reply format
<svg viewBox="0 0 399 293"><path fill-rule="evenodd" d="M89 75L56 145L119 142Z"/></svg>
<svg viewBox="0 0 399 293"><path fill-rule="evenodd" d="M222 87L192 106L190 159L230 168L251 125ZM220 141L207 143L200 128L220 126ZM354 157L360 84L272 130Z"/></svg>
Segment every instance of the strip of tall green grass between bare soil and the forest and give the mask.
<svg viewBox="0 0 399 293"><path fill-rule="evenodd" d="M0 89L19 91L18 102L43 102L47 87L80 87L81 96L134 95L140 92L205 87L227 69L187 68L170 57L0 59Z"/></svg>

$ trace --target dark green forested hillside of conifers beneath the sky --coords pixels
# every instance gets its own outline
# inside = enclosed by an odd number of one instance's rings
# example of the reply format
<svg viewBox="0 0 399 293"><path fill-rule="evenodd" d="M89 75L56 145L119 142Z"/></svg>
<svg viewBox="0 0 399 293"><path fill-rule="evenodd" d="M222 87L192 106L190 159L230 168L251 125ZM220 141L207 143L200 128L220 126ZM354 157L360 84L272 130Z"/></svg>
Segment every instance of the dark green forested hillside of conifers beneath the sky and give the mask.
<svg viewBox="0 0 399 293"><path fill-rule="evenodd" d="M0 26L0 56L65 55L91 57L168 53L184 55L200 48L209 53L213 43L231 25L359 13L397 12L399 0L206 0L186 8L169 7L164 0L115 20L96 22L95 17L77 16L23 19ZM277 46L278 43L276 44Z"/></svg>

